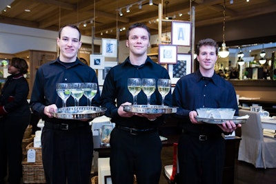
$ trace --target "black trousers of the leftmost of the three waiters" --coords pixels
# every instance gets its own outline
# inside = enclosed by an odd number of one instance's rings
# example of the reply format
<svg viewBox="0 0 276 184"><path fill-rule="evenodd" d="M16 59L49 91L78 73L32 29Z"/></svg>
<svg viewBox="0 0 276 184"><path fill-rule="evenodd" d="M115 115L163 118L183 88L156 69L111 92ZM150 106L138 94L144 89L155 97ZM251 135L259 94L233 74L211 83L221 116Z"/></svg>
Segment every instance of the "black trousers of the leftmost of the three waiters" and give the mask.
<svg viewBox="0 0 276 184"><path fill-rule="evenodd" d="M43 127L42 161L49 184L88 184L93 158L89 125L71 130Z"/></svg>

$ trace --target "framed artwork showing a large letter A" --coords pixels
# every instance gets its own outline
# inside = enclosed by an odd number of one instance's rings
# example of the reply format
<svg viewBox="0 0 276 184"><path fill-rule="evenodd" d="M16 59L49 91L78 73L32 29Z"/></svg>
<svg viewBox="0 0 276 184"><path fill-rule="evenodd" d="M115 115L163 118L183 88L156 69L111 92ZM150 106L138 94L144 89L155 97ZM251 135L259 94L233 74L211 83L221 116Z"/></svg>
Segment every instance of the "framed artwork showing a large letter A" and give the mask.
<svg viewBox="0 0 276 184"><path fill-rule="evenodd" d="M172 44L190 47L191 23L188 21L172 21Z"/></svg>

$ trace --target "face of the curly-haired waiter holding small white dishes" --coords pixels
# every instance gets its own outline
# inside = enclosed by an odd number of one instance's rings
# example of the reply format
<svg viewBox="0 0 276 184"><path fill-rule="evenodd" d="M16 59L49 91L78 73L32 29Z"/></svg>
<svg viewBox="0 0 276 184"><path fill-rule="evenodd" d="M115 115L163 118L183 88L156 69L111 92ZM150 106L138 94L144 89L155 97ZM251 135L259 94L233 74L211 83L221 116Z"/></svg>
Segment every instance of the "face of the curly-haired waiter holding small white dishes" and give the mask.
<svg viewBox="0 0 276 184"><path fill-rule="evenodd" d="M216 48L211 45L202 45L199 48L197 61L199 61L199 70L203 76L213 76L217 61Z"/></svg>

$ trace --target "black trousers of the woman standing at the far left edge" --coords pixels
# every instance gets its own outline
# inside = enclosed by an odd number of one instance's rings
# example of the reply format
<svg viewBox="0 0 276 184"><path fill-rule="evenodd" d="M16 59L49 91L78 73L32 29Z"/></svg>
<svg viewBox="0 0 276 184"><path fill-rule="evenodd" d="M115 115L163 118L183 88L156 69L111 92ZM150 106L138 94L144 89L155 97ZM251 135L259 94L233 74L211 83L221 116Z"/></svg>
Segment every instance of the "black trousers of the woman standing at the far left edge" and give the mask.
<svg viewBox="0 0 276 184"><path fill-rule="evenodd" d="M0 119L0 181L7 175L10 184L19 184L22 176L22 139L30 116L4 116Z"/></svg>

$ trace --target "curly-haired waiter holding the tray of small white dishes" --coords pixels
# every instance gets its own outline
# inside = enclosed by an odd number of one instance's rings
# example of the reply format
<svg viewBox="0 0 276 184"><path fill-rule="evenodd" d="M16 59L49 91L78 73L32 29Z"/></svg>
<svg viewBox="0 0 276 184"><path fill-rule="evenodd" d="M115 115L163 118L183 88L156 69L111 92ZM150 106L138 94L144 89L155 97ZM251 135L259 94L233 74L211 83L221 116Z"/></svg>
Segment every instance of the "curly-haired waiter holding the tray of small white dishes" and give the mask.
<svg viewBox="0 0 276 184"><path fill-rule="evenodd" d="M197 122L197 108L233 108L239 113L235 89L215 73L217 43L203 39L197 45L199 70L182 76L172 93L172 105L182 122L184 133L179 138L179 183L222 182L225 141L221 133L230 134L237 127L233 121L221 125Z"/></svg>

